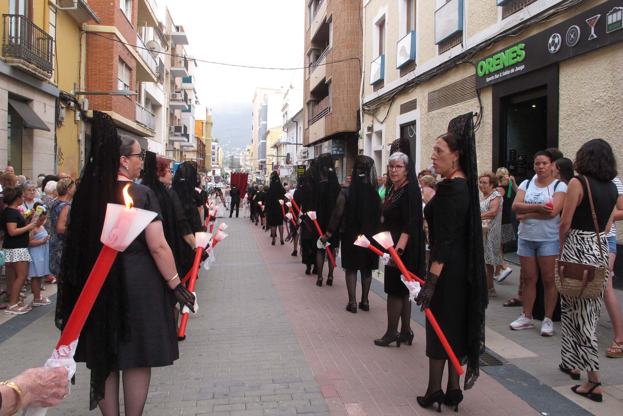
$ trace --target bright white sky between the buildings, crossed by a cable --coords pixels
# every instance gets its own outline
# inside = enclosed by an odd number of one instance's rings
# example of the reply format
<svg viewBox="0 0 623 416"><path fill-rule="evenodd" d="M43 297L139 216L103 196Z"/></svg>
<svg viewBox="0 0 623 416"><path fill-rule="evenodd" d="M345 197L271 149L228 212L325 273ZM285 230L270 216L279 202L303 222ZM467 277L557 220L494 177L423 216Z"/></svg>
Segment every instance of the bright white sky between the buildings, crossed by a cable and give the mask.
<svg viewBox="0 0 623 416"><path fill-rule="evenodd" d="M158 18L169 8L184 26L196 59L259 67L303 65L305 2L302 0L155 0ZM202 106L224 110L250 104L255 87L287 87L292 70L246 69L198 62L197 95ZM196 112L202 119L201 112Z"/></svg>

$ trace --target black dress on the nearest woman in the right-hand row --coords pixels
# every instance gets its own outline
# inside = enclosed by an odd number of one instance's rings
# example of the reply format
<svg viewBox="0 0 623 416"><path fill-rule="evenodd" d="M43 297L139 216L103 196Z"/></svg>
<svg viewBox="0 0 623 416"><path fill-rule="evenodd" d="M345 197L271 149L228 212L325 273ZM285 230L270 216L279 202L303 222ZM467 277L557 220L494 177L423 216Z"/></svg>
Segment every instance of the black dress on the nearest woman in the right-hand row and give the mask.
<svg viewBox="0 0 623 416"><path fill-rule="evenodd" d="M468 353L469 200L467 180L445 179L437 185L437 193L424 208L429 225L429 268L433 261L444 264L430 301L430 311L459 359ZM428 319L426 356L435 360L448 359Z"/></svg>

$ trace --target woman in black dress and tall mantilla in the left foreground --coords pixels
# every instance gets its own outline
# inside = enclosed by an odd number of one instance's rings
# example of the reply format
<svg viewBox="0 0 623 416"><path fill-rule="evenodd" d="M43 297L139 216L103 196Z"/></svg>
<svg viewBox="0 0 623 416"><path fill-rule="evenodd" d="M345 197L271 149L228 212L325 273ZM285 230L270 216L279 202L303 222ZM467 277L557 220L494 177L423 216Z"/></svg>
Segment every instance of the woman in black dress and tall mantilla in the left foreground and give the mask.
<svg viewBox="0 0 623 416"><path fill-rule="evenodd" d="M151 367L178 359L173 319L176 302L193 307L194 296L180 283L171 249L164 238L158 200L136 184L145 153L136 140L117 136L109 115L93 115L93 147L82 184L72 203L59 278L55 322L64 329L102 243L107 203L123 204L122 190L136 208L155 211L156 218L117 255L80 333L77 362L91 369L90 409L104 416L119 414L119 380L123 373L125 414L143 413Z"/></svg>

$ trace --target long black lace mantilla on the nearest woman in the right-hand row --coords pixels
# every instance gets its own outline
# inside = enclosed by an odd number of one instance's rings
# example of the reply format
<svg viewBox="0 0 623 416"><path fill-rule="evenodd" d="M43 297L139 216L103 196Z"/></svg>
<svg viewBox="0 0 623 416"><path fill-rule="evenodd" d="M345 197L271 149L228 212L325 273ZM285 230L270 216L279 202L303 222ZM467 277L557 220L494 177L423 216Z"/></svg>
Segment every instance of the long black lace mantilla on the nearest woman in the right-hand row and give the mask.
<svg viewBox="0 0 623 416"><path fill-rule="evenodd" d="M478 172L476 162L476 139L473 132L473 114L467 113L450 120L448 132L459 139L459 163L467 177L470 193L470 239L467 241L470 256L468 269L467 314L468 355L459 357L461 364L467 364L465 390L473 387L480 367L478 360L485 351L485 309L488 304L487 274L485 273L485 254L482 242L482 220L480 218L480 195L478 193Z"/></svg>

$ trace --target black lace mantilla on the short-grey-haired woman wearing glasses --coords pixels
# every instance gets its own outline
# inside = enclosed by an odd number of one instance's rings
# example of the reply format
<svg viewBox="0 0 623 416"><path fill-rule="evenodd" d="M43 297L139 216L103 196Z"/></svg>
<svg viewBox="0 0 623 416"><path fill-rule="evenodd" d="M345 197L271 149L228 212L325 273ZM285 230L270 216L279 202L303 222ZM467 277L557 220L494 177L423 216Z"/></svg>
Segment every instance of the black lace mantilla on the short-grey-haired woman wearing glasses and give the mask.
<svg viewBox="0 0 623 416"><path fill-rule="evenodd" d="M411 252L413 269L411 270L417 277L424 279L426 276L426 235L424 234L424 213L422 212L422 193L417 181L416 167L411 153L411 144L407 138L397 138L391 143L389 155L401 152L409 157L407 171L407 196L409 198L409 244L412 244ZM389 180L388 189L385 191L385 200L389 198L394 189L394 184ZM394 244L398 243L394 241Z"/></svg>

